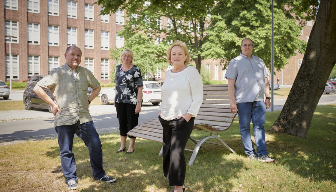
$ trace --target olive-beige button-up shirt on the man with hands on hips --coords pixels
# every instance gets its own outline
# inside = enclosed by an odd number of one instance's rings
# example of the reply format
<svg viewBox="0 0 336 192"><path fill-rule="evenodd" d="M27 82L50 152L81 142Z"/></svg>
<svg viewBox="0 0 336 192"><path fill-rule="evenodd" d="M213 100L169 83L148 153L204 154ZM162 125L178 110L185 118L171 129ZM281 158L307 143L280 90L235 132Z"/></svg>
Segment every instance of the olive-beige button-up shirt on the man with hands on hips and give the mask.
<svg viewBox="0 0 336 192"><path fill-rule="evenodd" d="M72 71L75 73L73 76ZM76 79L76 80L75 80ZM56 113L54 126L73 125L92 121L88 109L87 88L95 89L99 81L88 69L78 66L72 70L68 64L54 68L37 85L50 88L61 113Z"/></svg>

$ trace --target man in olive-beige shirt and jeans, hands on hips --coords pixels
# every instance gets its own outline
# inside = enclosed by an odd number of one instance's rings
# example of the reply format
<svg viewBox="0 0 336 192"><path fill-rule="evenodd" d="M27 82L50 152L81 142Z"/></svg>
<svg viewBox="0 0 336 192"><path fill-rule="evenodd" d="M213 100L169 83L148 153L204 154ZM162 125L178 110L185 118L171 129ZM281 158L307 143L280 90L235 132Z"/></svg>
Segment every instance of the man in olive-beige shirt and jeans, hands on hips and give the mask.
<svg viewBox="0 0 336 192"><path fill-rule="evenodd" d="M103 169L101 142L88 107L97 97L100 84L88 69L79 66L82 51L78 47L68 47L64 57L67 60L66 64L52 69L49 75L37 83L34 91L52 107L65 182L68 189L77 189L77 168L72 151L75 134L89 149L94 179L107 183L114 182L116 179L106 175ZM87 96L88 87L92 88L89 97ZM44 91L48 88L55 102Z"/></svg>

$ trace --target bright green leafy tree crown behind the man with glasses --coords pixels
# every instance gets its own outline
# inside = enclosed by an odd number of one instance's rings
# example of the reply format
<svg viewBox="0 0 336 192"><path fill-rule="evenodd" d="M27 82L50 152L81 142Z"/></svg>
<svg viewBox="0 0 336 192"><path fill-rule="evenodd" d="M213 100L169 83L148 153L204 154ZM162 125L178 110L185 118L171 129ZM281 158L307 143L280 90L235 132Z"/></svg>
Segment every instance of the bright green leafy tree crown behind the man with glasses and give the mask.
<svg viewBox="0 0 336 192"><path fill-rule="evenodd" d="M290 14L295 10L289 9L285 3L290 1L275 0L274 4L274 66L278 70L296 55L296 50L303 53L306 47L306 42L298 38L303 26L297 25L295 16ZM271 16L269 0L218 1L212 10L202 54L221 59L227 65L241 52L242 39L250 38L254 42L253 54L270 67Z"/></svg>

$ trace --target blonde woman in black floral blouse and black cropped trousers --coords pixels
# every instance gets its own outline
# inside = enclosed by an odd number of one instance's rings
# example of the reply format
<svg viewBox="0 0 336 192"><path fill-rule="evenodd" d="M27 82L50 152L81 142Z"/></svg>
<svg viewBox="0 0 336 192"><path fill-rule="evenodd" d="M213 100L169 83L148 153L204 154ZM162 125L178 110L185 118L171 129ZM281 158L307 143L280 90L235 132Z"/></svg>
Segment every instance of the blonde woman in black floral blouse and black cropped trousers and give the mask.
<svg viewBox="0 0 336 192"><path fill-rule="evenodd" d="M138 125L139 113L142 104L142 76L140 69L133 64L133 52L124 49L120 55L121 65L116 67L116 94L114 106L116 107L120 130L120 149L117 153L126 150L127 132ZM129 146L126 154L134 152L135 137L129 137Z"/></svg>

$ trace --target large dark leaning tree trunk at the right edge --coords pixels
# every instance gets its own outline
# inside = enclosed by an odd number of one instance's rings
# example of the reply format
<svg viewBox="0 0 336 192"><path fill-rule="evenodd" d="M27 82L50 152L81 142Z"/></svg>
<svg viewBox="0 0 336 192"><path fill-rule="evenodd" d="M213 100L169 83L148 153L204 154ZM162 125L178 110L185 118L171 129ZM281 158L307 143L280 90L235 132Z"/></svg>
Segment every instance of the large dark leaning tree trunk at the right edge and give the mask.
<svg viewBox="0 0 336 192"><path fill-rule="evenodd" d="M305 138L336 63L336 1L321 0L301 68L280 116L269 129Z"/></svg>

